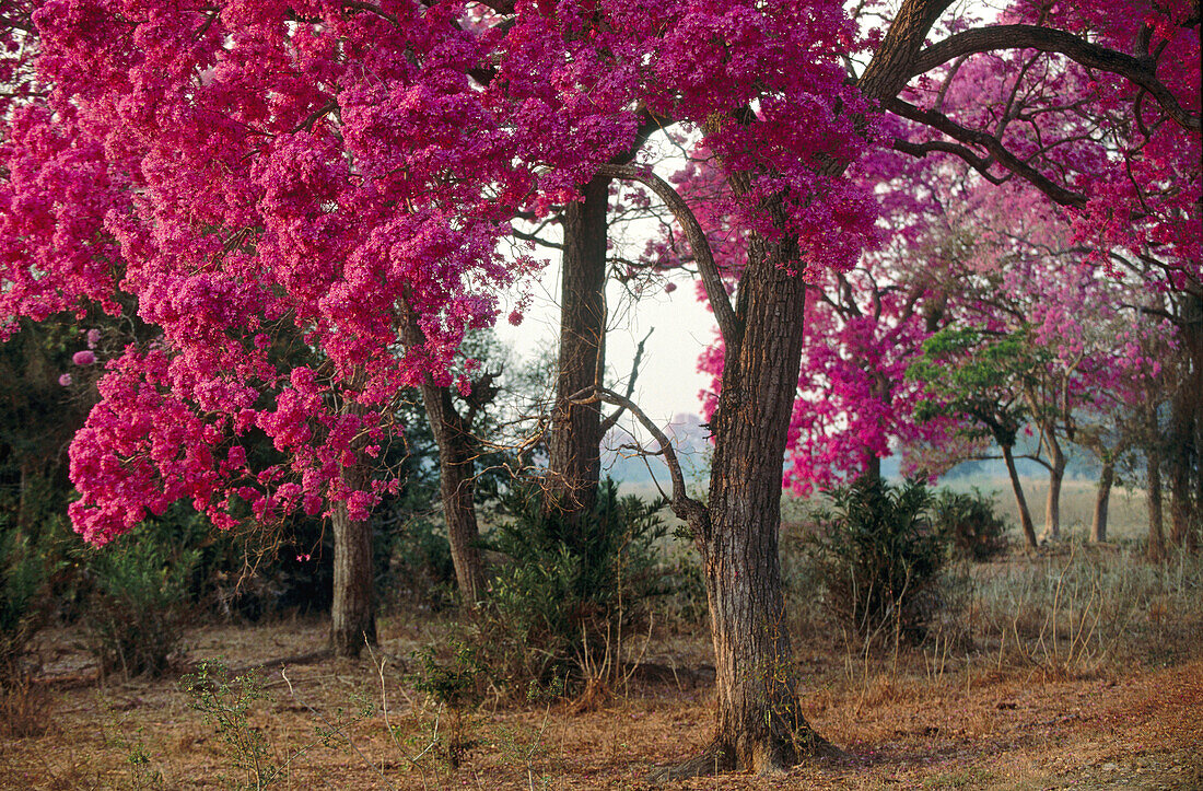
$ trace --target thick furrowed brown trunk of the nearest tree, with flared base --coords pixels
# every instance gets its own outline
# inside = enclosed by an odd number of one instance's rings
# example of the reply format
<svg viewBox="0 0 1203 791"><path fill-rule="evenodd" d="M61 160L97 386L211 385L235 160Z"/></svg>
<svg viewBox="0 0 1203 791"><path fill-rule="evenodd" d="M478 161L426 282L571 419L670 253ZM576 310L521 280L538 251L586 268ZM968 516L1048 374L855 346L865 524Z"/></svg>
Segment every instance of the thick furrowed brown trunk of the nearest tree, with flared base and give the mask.
<svg viewBox="0 0 1203 791"><path fill-rule="evenodd" d="M709 524L693 523L715 649L715 738L703 755L653 780L716 769L776 772L830 749L799 710L777 554L806 285L777 266L778 260L795 260L788 250L768 250L758 242L741 279L745 330L737 349L728 348L711 419L716 445Z"/></svg>

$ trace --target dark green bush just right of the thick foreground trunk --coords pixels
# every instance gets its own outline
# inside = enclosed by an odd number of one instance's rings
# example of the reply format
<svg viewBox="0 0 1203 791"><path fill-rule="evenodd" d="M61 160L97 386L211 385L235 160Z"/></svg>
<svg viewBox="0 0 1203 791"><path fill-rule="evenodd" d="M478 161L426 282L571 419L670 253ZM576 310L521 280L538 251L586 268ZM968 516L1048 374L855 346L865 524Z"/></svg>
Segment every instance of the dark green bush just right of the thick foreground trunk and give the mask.
<svg viewBox="0 0 1203 791"><path fill-rule="evenodd" d="M946 556L928 488L865 477L826 494L831 509L817 514L807 547L826 606L866 641L887 627L921 639L940 609Z"/></svg>

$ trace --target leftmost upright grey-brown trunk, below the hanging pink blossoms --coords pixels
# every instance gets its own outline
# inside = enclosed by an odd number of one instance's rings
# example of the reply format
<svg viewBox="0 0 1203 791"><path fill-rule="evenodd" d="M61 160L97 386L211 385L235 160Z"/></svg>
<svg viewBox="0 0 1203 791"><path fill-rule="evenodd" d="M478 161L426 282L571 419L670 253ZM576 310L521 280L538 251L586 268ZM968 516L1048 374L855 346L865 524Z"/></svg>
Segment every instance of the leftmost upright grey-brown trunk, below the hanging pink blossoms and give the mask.
<svg viewBox="0 0 1203 791"><path fill-rule="evenodd" d="M360 486L362 471L348 470L348 484ZM337 503L334 530L334 601L330 608L330 642L336 656L358 656L365 643L375 644L372 523L352 520L346 503Z"/></svg>

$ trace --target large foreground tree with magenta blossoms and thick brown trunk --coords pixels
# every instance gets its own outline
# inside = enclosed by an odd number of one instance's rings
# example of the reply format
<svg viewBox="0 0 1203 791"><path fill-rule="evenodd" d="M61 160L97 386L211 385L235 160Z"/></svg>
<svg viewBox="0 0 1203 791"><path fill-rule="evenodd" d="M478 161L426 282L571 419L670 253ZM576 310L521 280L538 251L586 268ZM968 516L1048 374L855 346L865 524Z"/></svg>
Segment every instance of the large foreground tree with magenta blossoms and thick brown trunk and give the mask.
<svg viewBox="0 0 1203 791"><path fill-rule="evenodd" d="M1101 7L1021 6L982 25L905 0L863 36L831 0L47 0L31 20L51 95L5 136L0 315L113 309L124 294L162 330L108 364L72 450L77 529L103 541L179 498L219 526L290 508L362 521L390 485L366 461L390 400L456 382L463 332L494 319L492 290L523 270L497 254L509 219L598 177L639 182L680 224L723 356L709 496L689 497L678 468L672 496L703 559L715 734L660 777L772 772L825 750L780 628L808 283L877 242L858 163L882 146L1086 206L1089 175L1113 170L1106 147L1071 163L1069 126L1050 126L1065 146L1030 131L1078 113L1055 75L1097 72L1092 108L1114 95L1116 112L1136 104L1150 131L1197 144L1192 7ZM978 58L1003 64L983 79L1008 90L942 107L938 85ZM1017 118L996 99L1012 85L1032 96ZM913 129L894 134L883 113ZM1115 126L1104 112L1090 123ZM672 124L718 173L704 206L623 159ZM716 258L716 231L737 265ZM273 355L290 333L314 365ZM626 401L595 382L576 395ZM247 432L286 458L250 468Z"/></svg>

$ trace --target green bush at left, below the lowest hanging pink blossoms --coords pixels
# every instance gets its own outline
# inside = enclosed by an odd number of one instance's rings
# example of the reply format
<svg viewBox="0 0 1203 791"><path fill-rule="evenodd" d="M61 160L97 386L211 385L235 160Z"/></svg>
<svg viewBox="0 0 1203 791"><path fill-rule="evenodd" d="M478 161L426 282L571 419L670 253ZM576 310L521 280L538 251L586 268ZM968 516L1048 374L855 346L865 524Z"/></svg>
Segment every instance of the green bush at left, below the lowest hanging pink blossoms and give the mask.
<svg viewBox="0 0 1203 791"><path fill-rule="evenodd" d="M197 551L170 553L144 538L135 531L91 562L94 589L83 625L102 674L159 675L183 638Z"/></svg>

